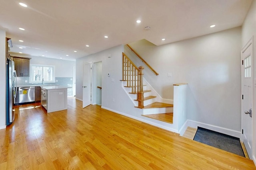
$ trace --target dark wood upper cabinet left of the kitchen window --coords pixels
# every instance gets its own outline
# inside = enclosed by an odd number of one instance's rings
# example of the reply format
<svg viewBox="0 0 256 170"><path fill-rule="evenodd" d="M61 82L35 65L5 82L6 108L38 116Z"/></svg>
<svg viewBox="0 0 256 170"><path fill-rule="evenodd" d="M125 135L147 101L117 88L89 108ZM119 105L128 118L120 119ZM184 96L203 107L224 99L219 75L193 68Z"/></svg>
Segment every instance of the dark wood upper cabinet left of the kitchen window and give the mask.
<svg viewBox="0 0 256 170"><path fill-rule="evenodd" d="M30 58L13 57L17 76L29 77Z"/></svg>

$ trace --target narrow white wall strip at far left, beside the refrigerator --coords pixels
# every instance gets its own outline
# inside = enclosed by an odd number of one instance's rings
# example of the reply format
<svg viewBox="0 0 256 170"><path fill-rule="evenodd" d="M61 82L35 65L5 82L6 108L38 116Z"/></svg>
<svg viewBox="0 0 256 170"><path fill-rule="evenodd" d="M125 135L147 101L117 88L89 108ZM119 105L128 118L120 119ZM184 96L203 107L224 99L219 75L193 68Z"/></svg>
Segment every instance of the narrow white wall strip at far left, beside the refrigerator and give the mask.
<svg viewBox="0 0 256 170"><path fill-rule="evenodd" d="M6 32L0 29L0 129L6 127Z"/></svg>

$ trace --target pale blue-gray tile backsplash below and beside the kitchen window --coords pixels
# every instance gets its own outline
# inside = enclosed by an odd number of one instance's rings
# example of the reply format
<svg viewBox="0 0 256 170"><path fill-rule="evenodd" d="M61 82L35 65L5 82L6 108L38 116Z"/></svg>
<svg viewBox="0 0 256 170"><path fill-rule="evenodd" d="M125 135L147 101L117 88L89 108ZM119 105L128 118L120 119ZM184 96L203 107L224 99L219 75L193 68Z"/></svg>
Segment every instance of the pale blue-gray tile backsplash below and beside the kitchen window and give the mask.
<svg viewBox="0 0 256 170"><path fill-rule="evenodd" d="M58 84L61 86L68 86L72 88L68 88L68 96L73 96L73 79L72 77L55 77L55 83L45 83L47 84ZM58 82L57 82L58 81ZM17 85L18 86L31 86L31 85L39 85L42 83L29 83L29 77L17 77Z"/></svg>

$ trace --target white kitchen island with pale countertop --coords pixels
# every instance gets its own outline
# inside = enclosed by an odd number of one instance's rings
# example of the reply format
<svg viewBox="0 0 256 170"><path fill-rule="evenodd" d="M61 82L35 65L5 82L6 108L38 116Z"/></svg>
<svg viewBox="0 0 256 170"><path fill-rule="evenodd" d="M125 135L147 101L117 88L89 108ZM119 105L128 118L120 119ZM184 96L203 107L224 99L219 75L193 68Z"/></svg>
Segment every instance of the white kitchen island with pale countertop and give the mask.
<svg viewBox="0 0 256 170"><path fill-rule="evenodd" d="M41 105L47 113L68 109L66 86L41 86Z"/></svg>

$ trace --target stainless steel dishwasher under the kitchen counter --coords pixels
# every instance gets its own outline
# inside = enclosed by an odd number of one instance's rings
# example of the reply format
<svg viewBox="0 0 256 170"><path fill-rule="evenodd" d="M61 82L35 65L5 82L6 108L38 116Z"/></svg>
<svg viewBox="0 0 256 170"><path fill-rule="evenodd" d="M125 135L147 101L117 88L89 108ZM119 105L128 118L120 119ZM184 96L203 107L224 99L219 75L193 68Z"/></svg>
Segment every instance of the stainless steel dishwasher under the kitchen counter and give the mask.
<svg viewBox="0 0 256 170"><path fill-rule="evenodd" d="M35 87L19 87L19 103L34 102Z"/></svg>

